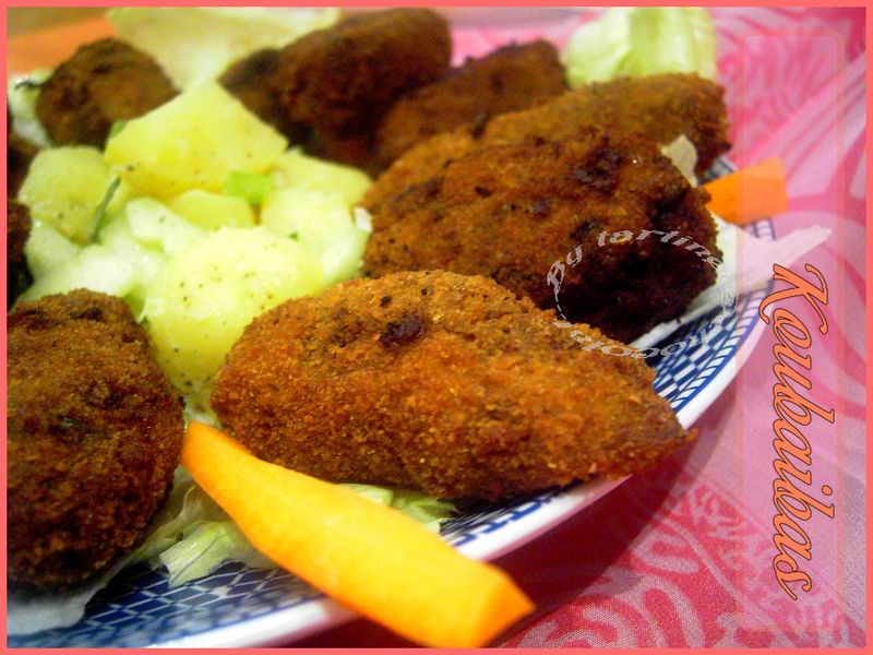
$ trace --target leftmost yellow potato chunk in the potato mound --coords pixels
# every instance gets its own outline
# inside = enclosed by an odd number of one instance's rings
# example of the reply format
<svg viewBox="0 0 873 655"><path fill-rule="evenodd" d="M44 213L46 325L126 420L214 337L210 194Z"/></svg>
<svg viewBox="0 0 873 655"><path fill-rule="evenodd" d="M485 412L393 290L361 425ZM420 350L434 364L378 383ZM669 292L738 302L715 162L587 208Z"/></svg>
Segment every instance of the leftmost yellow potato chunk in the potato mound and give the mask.
<svg viewBox="0 0 873 655"><path fill-rule="evenodd" d="M40 151L31 163L19 190L19 200L35 221L50 225L76 243L93 238L97 205L116 176L100 151L91 146L64 146ZM107 212L118 211L129 195L122 183Z"/></svg>

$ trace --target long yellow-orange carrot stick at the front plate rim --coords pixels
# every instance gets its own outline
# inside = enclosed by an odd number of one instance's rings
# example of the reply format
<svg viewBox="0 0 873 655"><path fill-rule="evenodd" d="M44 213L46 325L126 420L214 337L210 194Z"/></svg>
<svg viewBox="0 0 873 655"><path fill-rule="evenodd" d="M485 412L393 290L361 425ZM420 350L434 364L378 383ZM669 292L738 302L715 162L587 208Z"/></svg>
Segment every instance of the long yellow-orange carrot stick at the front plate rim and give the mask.
<svg viewBox="0 0 873 655"><path fill-rule="evenodd" d="M482 646L534 609L503 571L398 511L259 460L205 424L189 424L182 465L264 555L411 641Z"/></svg>

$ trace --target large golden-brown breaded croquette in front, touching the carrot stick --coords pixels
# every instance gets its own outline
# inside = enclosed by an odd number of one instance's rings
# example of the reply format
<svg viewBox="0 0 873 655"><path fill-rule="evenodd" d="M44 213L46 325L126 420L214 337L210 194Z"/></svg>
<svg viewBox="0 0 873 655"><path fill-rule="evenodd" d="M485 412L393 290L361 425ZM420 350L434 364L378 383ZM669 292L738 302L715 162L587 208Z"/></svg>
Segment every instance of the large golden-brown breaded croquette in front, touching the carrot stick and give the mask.
<svg viewBox="0 0 873 655"><path fill-rule="evenodd" d="M638 472L687 441L653 378L639 359L579 347L493 281L405 272L253 321L212 405L283 466L494 500Z"/></svg>

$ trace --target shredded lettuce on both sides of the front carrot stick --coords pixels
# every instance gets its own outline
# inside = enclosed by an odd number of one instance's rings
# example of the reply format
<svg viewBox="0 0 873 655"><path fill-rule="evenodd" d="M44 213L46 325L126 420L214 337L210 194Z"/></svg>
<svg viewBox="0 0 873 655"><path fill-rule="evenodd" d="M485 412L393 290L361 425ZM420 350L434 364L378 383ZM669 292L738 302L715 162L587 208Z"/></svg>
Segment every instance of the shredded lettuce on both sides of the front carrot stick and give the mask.
<svg viewBox="0 0 873 655"><path fill-rule="evenodd" d="M373 502L396 508L434 532L457 512L451 502L420 491L342 486ZM136 562L153 569L166 568L170 588L208 575L229 562L242 562L252 569L276 567L182 467L176 471L170 498L152 522L148 536L127 560L130 564Z"/></svg>

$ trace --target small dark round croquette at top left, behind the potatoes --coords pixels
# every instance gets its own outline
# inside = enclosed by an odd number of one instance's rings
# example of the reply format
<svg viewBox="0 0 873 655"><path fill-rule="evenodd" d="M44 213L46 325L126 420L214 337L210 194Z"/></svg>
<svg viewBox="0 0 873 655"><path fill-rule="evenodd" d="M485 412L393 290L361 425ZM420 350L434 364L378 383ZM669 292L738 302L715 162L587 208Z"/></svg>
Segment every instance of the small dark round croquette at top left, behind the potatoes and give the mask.
<svg viewBox="0 0 873 655"><path fill-rule="evenodd" d="M36 114L55 145L103 147L115 121L139 118L175 95L151 57L104 38L58 67L41 86Z"/></svg>

